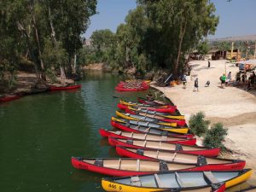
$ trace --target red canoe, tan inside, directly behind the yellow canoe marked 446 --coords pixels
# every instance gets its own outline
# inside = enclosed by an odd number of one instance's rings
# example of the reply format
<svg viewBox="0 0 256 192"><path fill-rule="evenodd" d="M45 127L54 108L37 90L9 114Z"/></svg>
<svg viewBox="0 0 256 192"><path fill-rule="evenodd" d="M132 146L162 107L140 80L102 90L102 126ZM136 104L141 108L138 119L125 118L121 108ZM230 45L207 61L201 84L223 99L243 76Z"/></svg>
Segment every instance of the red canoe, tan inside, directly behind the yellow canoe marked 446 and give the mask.
<svg viewBox="0 0 256 192"><path fill-rule="evenodd" d="M191 166L164 160L139 160L131 158L82 158L72 157L73 167L90 172L120 177L145 175L169 171L212 171L207 166Z"/></svg>

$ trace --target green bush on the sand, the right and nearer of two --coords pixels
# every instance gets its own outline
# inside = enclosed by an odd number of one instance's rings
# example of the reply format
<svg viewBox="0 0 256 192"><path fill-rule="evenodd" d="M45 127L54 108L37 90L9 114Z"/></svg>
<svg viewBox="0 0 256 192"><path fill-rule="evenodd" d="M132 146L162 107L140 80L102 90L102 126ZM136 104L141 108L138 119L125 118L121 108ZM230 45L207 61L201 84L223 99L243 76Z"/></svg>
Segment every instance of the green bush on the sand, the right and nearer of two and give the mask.
<svg viewBox="0 0 256 192"><path fill-rule="evenodd" d="M207 134L203 140L204 146L207 148L222 148L224 149L223 141L228 135L228 129L224 128L221 123L213 124L211 129L207 131Z"/></svg>

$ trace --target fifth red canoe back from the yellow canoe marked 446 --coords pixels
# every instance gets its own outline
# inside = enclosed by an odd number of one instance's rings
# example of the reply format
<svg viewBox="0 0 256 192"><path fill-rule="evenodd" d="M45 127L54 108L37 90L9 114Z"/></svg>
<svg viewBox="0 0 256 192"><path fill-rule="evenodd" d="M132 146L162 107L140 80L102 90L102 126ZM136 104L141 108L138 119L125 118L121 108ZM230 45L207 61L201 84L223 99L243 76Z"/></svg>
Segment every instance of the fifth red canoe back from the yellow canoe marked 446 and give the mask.
<svg viewBox="0 0 256 192"><path fill-rule="evenodd" d="M113 126L113 128L117 128L122 131L128 131L128 132L138 132L138 133L151 133L156 135L164 135L168 137L180 137L180 138L193 138L195 137L193 134L178 134L174 133L172 131L163 131L160 129L154 129L143 125L130 125L130 123L121 123L116 122L113 119L110 121L110 124Z"/></svg>

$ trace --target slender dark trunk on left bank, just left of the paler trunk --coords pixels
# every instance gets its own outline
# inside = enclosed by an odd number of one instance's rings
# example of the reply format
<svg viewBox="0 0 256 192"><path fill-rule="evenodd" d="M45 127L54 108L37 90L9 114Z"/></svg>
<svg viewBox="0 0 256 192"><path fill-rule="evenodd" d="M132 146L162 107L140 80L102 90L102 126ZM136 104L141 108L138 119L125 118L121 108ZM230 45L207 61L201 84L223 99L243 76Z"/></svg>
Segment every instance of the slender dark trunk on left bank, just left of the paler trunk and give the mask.
<svg viewBox="0 0 256 192"><path fill-rule="evenodd" d="M38 34L38 26L37 26L37 20L34 12L34 1L30 1L30 9L31 9L31 14L32 14L32 24L35 29L36 33L36 38L37 38L37 44L38 44L38 55L39 55L39 61L40 61L40 67L41 67L41 79L46 82L46 77L44 74L44 61L42 59L42 51L41 51L41 44L40 44L40 39L39 39L39 34Z"/></svg>

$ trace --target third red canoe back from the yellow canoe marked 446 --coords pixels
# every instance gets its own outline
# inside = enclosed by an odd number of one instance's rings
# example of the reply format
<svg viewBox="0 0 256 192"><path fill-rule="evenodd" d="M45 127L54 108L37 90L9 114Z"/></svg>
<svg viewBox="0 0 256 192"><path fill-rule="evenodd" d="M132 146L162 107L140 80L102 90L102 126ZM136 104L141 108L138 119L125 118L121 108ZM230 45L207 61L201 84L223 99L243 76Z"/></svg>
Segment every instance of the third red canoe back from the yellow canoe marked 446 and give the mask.
<svg viewBox="0 0 256 192"><path fill-rule="evenodd" d="M108 143L112 146L123 146L127 148L154 148L166 151L182 151L185 154L200 154L207 157L216 157L219 148L204 148L198 146L181 145L177 143L152 142L147 140L131 140L108 137Z"/></svg>

